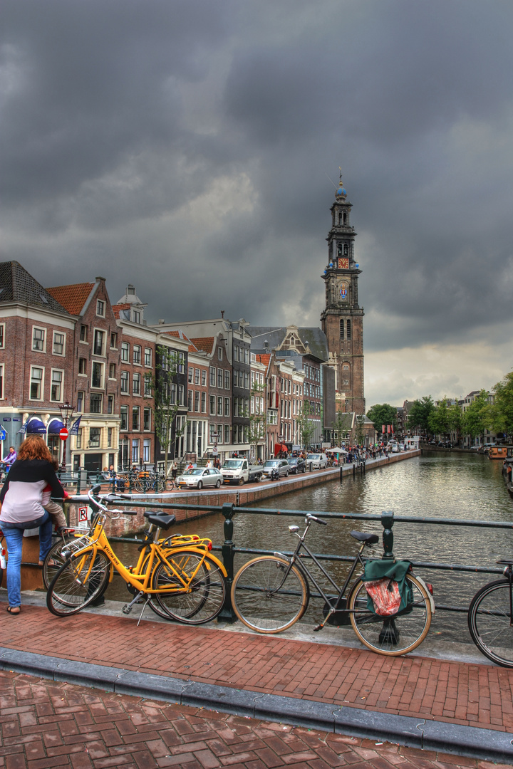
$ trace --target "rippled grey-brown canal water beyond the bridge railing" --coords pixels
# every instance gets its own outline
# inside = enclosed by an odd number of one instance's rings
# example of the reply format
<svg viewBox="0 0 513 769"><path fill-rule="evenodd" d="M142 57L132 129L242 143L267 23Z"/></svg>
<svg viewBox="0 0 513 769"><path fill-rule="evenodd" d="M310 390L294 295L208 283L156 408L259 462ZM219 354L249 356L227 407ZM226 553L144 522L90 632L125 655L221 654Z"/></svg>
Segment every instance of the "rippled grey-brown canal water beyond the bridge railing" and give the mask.
<svg viewBox="0 0 513 769"><path fill-rule="evenodd" d="M513 500L509 497L501 474L502 463L490 461L484 455L426 452L395 464L368 471L344 481L329 481L291 494L267 499L254 508L339 513L372 513L393 511L396 516L423 518L456 518L473 521L513 522ZM288 532L289 524L302 524L301 518L280 518L268 514L235 513L233 540L236 548L291 551L295 538ZM197 533L212 538L221 545L224 518L214 514L178 525L182 534ZM328 526L312 525L308 544L315 553L354 555L358 544L351 530L378 534L380 544L369 554L381 555L380 521L330 520ZM125 558L135 546L117 545ZM123 552L124 551L124 552ZM496 568L498 558L513 551L513 531L435 524L409 524L396 521L394 553L397 558L411 561L439 562ZM237 553L235 571L252 556ZM135 558L135 556L134 556ZM328 564L328 571L340 584L348 564ZM416 568L425 581L433 584L435 603L468 607L475 591L494 579L489 574L468 574L458 571L434 571ZM316 575L317 576L317 575ZM115 580L109 588L109 598L125 601L128 592ZM116 584L117 583L117 584ZM322 601L311 601L304 621L318 621ZM444 640L470 642L466 616L439 611L431 624L431 632ZM463 638L462 636L465 636Z"/></svg>

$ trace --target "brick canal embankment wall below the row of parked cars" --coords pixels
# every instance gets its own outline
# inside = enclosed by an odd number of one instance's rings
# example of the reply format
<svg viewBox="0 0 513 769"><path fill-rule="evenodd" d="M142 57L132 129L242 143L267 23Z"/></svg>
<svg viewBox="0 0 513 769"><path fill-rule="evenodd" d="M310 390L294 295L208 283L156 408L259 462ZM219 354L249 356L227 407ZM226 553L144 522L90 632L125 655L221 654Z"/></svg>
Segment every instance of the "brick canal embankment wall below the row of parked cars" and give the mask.
<svg viewBox="0 0 513 769"><path fill-rule="evenodd" d="M124 494L125 497L131 499L134 509L138 511L137 515L129 519L118 518L114 521L108 521L105 524L105 529L112 536L130 536L142 531L145 525L145 511L165 511L160 507L161 504L173 505L169 512L175 514L178 522L202 518L205 515L211 514L212 511L209 508L219 508L222 504L228 503L234 504L236 507L248 507L264 499L275 498L281 496L281 494L288 494L291 491L300 491L303 488L328 483L328 481L343 482L345 478L352 478L353 475L371 472L378 468L386 468L397 462L406 461L420 455L420 450L405 451L399 454L390 454L388 457L368 459L365 463L365 468L358 468L358 465L355 464L344 464L337 468L291 475L288 478L281 478L280 481L260 481L244 486L225 485L220 489L212 489L212 491L202 489L201 491L171 491L165 494ZM107 486L105 486L105 491L108 491ZM84 508L87 505L85 495L82 495L80 498L75 497L74 500L66 504L70 526L78 526L81 515L80 509L82 508L83 516ZM159 504L158 510L155 508L155 503ZM183 504L186 507L175 508L177 504Z"/></svg>

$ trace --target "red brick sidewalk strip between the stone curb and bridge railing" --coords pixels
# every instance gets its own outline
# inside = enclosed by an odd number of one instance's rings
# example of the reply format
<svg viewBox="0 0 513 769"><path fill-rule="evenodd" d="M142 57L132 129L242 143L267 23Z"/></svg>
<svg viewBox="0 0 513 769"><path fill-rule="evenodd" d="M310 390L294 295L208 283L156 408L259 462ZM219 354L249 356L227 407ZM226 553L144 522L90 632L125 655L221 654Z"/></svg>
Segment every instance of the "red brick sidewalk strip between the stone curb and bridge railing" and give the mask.
<svg viewBox="0 0 513 769"><path fill-rule="evenodd" d="M215 627L24 606L2 622L2 645L265 694L513 731L513 671L427 657L382 657L331 644Z"/></svg>

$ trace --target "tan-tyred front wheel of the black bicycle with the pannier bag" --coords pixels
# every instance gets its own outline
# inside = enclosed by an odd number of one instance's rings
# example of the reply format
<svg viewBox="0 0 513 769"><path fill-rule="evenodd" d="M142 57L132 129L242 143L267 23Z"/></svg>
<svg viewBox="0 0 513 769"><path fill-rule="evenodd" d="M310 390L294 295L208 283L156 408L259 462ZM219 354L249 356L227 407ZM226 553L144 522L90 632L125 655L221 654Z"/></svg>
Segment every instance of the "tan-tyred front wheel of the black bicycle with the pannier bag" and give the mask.
<svg viewBox="0 0 513 769"><path fill-rule="evenodd" d="M308 607L308 581L285 558L262 555L248 561L232 584L232 606L239 620L257 633L280 633L297 622Z"/></svg>

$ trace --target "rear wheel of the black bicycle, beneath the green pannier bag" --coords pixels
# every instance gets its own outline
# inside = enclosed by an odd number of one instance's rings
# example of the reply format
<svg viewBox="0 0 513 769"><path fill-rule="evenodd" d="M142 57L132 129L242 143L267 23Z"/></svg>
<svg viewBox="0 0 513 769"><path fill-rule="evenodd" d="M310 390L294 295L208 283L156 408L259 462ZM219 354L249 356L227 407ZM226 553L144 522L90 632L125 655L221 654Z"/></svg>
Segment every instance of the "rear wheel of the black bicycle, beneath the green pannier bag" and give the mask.
<svg viewBox="0 0 513 769"><path fill-rule="evenodd" d="M351 625L361 643L387 657L398 657L418 647L431 625L428 593L411 574L406 575L406 580L413 591L413 604L392 617L379 617L368 610L367 591L361 579L348 596Z"/></svg>

